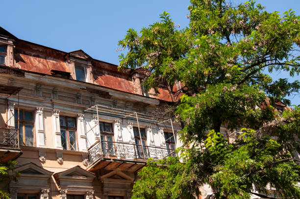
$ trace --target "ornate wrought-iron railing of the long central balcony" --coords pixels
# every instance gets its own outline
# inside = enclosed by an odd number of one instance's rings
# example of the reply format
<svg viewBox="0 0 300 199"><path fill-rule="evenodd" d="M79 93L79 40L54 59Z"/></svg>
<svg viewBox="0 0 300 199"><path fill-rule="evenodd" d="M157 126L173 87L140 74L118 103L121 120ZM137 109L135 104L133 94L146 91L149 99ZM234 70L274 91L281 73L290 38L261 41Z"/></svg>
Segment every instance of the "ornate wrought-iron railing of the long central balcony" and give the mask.
<svg viewBox="0 0 300 199"><path fill-rule="evenodd" d="M154 160L166 159L169 156L176 156L175 150L150 147L122 142L97 141L89 149L89 162L93 164L101 158L115 158L134 161L147 161L150 157Z"/></svg>

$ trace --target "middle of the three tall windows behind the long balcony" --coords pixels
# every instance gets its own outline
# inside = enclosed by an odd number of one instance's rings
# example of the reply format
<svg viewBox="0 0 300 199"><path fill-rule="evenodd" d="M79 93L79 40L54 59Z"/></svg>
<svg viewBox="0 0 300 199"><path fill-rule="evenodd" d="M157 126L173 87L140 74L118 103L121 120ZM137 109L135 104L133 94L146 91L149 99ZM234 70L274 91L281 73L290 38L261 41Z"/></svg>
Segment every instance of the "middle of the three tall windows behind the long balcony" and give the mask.
<svg viewBox="0 0 300 199"><path fill-rule="evenodd" d="M145 133L145 128L140 128L141 132L141 137L139 133L139 128L138 127L133 127L133 134L134 134L134 141L136 144L136 152L139 158L144 158L144 153L145 153L145 158L147 157L147 148L146 148L146 133ZM141 142L142 140L142 142ZM142 149L142 144L143 144L143 149Z"/></svg>

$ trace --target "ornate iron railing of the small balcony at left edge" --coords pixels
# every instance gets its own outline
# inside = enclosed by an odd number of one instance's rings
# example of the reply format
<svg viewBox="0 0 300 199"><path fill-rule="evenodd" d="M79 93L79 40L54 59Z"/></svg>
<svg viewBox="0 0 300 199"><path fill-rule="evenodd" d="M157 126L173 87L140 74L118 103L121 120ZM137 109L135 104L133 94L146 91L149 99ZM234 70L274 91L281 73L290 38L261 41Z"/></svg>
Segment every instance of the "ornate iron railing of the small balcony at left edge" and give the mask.
<svg viewBox="0 0 300 199"><path fill-rule="evenodd" d="M0 147L19 148L18 129L0 127Z"/></svg>

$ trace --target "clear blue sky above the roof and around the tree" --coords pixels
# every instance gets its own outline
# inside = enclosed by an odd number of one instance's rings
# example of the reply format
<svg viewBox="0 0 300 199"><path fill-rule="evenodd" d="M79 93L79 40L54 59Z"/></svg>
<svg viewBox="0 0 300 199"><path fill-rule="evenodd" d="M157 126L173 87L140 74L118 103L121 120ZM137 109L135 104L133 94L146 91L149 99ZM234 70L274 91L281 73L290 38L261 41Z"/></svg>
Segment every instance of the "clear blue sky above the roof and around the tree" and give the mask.
<svg viewBox="0 0 300 199"><path fill-rule="evenodd" d="M243 0L231 0L233 4ZM267 11L292 8L300 0L257 0ZM118 64L117 43L128 28L140 30L167 11L176 24L188 25L189 0L3 0L0 26L16 37L66 52L82 49L95 59ZM284 73L274 78L290 78ZM300 96L291 99L300 104Z"/></svg>

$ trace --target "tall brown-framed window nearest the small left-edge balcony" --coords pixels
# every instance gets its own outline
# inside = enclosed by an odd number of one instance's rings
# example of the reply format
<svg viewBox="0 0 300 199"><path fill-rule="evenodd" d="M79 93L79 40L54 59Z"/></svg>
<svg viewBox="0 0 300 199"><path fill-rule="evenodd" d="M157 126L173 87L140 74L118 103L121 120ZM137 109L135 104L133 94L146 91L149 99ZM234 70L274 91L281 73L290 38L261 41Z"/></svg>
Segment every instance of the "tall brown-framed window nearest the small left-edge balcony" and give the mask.
<svg viewBox="0 0 300 199"><path fill-rule="evenodd" d="M19 143L21 146L34 146L33 126L32 112L20 110ZM15 110L15 128L18 128L18 110Z"/></svg>

